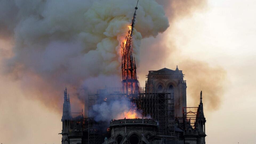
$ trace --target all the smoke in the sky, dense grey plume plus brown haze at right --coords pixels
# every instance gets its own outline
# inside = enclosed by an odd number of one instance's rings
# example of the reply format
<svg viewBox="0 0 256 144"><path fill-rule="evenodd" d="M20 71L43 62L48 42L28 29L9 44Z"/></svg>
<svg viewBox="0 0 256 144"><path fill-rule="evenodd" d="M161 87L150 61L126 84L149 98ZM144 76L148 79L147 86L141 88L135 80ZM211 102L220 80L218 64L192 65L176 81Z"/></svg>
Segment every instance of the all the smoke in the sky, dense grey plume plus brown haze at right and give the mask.
<svg viewBox="0 0 256 144"><path fill-rule="evenodd" d="M0 45L1 67L4 67L1 70L19 80L29 98L39 99L49 108L61 110L61 90L66 86L71 103L79 105L72 107L73 111L81 109L84 96L95 93L95 89L105 85L120 87L119 44L128 30L136 3L137 0L1 1L0 42L13 47ZM217 109L224 91L225 71L174 55L178 47L166 40L167 35L175 35L172 33L175 21L204 9L206 3L206 0L140 0L133 35L134 56L140 81L145 80L147 70L156 70L166 57L171 61L169 65L178 63L186 74L188 97L198 103L201 83L203 95L208 95L204 102ZM167 32L156 37L167 27ZM151 36L156 38L147 38ZM140 46L144 38L147 39ZM139 55L143 65L139 65Z"/></svg>

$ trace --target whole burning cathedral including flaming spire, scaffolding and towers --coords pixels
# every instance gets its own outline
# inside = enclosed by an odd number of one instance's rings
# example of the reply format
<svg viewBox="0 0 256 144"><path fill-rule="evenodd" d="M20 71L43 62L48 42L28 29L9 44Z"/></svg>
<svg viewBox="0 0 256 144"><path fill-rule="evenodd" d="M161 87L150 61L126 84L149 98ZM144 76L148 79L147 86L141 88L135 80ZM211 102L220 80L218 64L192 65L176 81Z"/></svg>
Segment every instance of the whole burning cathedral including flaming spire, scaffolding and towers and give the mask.
<svg viewBox="0 0 256 144"><path fill-rule="evenodd" d="M198 107L187 107L186 81L182 70L163 68L149 71L145 87L139 87L132 33L136 10L121 45L122 87L98 89L88 95L88 118L82 113L72 117L70 98L64 91L62 144L205 144L202 91ZM97 119L97 105L129 101L129 111L115 120ZM107 108L108 109L108 108Z"/></svg>

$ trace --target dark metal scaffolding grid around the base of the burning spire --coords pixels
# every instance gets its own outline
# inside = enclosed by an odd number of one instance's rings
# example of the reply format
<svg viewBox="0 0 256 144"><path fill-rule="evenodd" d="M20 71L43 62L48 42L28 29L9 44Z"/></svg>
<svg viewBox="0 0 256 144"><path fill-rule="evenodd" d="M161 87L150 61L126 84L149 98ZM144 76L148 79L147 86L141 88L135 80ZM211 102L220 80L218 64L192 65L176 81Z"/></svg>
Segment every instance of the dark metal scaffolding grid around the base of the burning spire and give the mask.
<svg viewBox="0 0 256 144"><path fill-rule="evenodd" d="M157 93L139 88L140 93L126 95L123 88L105 88L97 90L96 94L89 94L88 112L88 143L102 143L105 134L103 129L105 122L96 122L93 106L111 100L129 98L136 103L138 109L142 110L143 116L149 116L158 123L158 137L178 139L174 128L174 97L173 93Z"/></svg>

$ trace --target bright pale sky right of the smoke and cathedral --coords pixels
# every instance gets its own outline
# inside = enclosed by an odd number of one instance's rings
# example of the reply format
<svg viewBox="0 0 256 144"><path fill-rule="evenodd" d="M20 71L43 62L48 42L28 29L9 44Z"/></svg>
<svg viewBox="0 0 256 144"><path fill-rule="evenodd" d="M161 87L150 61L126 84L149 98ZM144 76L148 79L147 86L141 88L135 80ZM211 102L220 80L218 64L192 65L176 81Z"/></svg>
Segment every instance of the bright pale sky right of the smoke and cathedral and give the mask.
<svg viewBox="0 0 256 144"><path fill-rule="evenodd" d="M221 95L219 110L205 110L206 143L256 143L255 6L256 2L252 0L211 0L206 9L176 21L175 28L164 33L178 47L174 54L177 63L179 57L189 57L226 70L225 93ZM164 60L155 70L162 67ZM168 61L166 67L175 69L175 65L169 65ZM182 65L179 68L182 70ZM183 71L185 79L186 73L189 71ZM207 83L201 85L201 90L204 85ZM189 96L188 91L188 105ZM204 109L208 109L207 105Z"/></svg>

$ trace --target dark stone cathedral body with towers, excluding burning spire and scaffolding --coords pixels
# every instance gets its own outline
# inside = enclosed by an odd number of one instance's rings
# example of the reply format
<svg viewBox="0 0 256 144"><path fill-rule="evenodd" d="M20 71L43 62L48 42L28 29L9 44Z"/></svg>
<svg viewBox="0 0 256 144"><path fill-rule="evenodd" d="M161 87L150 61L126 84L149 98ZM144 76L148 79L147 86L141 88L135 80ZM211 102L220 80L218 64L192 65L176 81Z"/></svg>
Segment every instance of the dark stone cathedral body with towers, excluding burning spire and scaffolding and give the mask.
<svg viewBox="0 0 256 144"><path fill-rule="evenodd" d="M186 105L186 81L181 70L163 68L149 71L145 88L140 88L135 98L143 114L152 119L120 119L110 122L97 122L89 111L88 118L83 115L71 117L70 99L64 91L62 115L62 144L87 143L182 143L205 144L205 122L203 114L202 91L198 97L198 107ZM119 91L105 88L97 94L89 95L89 110L95 103L107 102ZM144 91L142 91L144 90ZM120 91L119 91L120 92ZM118 93L125 97L126 93ZM102 98L104 97L104 98ZM105 127L108 127L105 129ZM130 134L129 134L130 133Z"/></svg>

